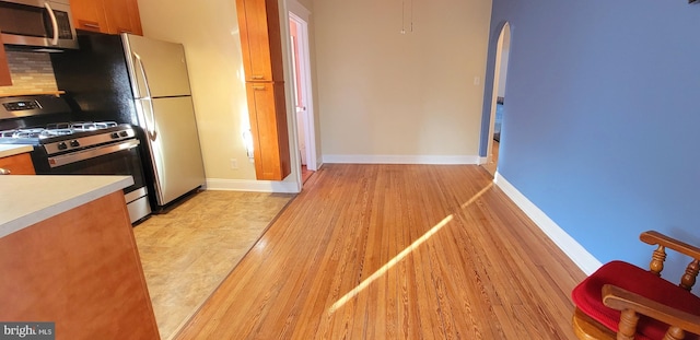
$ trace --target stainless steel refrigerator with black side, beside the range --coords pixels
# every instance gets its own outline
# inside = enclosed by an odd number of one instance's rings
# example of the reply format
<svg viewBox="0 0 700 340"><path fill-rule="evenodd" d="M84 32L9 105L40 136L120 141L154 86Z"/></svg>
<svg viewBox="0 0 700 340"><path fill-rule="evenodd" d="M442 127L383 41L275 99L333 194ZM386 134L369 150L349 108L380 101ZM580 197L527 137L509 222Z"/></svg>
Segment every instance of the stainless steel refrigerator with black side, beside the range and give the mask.
<svg viewBox="0 0 700 340"><path fill-rule="evenodd" d="M182 44L79 32L80 50L52 54L59 90L82 120L140 127L149 197L158 211L205 184Z"/></svg>

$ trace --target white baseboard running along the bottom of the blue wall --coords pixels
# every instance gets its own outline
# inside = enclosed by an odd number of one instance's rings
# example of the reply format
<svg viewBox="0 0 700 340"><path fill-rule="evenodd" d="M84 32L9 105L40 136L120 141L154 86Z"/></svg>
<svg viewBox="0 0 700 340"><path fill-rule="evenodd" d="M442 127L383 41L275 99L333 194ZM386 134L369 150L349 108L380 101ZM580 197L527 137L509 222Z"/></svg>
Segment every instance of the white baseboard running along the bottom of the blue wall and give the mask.
<svg viewBox="0 0 700 340"><path fill-rule="evenodd" d="M513 202L525 214L539 226L542 232L569 256L569 258L587 275L596 271L603 263L598 261L588 250L580 245L573 237L564 232L555 221L552 221L544 211L539 210L535 203L529 201L513 185L511 185L501 174L497 173L493 181L513 200Z"/></svg>

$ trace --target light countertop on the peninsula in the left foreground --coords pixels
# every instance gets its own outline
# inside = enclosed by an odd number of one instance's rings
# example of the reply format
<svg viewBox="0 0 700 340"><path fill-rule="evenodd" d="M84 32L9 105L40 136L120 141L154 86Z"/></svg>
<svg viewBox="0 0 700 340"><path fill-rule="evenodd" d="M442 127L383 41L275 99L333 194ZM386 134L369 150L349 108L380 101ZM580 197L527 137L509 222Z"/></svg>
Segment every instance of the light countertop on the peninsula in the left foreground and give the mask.
<svg viewBox="0 0 700 340"><path fill-rule="evenodd" d="M132 184L131 176L0 176L0 237Z"/></svg>

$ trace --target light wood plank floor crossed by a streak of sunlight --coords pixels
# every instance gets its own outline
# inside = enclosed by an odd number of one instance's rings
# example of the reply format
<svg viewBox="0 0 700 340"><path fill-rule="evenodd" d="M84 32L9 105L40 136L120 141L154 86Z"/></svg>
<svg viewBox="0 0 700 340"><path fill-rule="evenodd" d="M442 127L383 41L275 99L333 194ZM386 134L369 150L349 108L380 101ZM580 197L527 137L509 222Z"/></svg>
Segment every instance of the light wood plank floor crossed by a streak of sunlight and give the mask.
<svg viewBox="0 0 700 340"><path fill-rule="evenodd" d="M584 274L480 166L326 165L178 339L574 339Z"/></svg>

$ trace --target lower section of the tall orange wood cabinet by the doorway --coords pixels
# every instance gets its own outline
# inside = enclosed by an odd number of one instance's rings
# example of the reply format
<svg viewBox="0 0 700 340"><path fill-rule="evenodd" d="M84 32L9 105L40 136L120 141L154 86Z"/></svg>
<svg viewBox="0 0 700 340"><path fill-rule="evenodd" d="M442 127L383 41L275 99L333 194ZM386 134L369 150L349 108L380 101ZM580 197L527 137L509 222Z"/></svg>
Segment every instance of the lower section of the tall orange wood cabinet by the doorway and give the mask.
<svg viewBox="0 0 700 340"><path fill-rule="evenodd" d="M255 172L282 180L291 173L283 83L247 83Z"/></svg>

